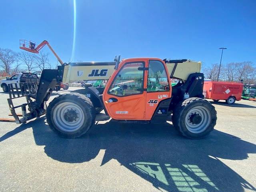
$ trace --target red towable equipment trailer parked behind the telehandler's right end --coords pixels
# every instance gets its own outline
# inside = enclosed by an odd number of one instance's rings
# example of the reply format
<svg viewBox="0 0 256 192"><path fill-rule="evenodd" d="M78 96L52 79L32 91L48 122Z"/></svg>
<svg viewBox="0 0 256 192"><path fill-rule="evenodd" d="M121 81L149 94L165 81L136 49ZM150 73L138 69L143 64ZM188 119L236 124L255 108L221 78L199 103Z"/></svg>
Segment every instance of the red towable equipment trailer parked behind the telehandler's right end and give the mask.
<svg viewBox="0 0 256 192"><path fill-rule="evenodd" d="M242 83L204 80L204 98L226 100L228 104L234 104L236 100L241 100L242 92Z"/></svg>

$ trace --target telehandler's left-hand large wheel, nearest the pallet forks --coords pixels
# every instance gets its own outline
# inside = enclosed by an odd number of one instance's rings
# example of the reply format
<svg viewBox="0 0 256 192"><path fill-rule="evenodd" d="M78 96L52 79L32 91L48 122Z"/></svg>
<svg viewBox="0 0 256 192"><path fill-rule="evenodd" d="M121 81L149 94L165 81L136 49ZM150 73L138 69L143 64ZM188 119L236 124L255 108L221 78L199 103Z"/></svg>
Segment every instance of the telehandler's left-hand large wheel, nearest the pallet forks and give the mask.
<svg viewBox="0 0 256 192"><path fill-rule="evenodd" d="M95 122L95 108L86 96L79 93L60 95L50 102L46 119L50 128L64 138L85 134Z"/></svg>

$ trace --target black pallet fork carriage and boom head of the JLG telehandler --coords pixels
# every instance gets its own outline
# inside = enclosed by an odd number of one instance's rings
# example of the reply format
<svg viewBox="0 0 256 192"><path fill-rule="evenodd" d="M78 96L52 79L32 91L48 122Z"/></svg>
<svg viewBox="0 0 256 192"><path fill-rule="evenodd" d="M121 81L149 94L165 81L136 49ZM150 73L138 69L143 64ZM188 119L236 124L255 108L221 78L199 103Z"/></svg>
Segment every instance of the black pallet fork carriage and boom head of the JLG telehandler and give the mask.
<svg viewBox="0 0 256 192"><path fill-rule="evenodd" d="M64 67L58 69L45 69L42 71L39 85L36 82L13 83L8 85L8 104L16 124L26 122L32 118L40 117L46 113L46 101L50 98L57 83L62 80ZM14 106L12 100L26 97L25 104ZM28 113L26 106L28 106ZM15 109L22 109L22 118L16 114Z"/></svg>

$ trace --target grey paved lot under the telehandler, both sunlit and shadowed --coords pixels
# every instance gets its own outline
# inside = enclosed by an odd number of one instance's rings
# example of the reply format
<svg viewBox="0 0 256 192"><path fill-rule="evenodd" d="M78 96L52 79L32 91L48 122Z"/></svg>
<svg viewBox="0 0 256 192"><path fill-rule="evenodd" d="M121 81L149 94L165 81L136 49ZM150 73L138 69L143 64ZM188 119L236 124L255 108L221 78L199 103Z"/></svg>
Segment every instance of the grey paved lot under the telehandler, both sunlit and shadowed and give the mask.
<svg viewBox="0 0 256 192"><path fill-rule="evenodd" d="M7 98L0 89L1 118ZM217 124L202 140L170 122L96 121L76 139L59 138L45 116L0 122L0 191L256 191L256 102L212 104Z"/></svg>

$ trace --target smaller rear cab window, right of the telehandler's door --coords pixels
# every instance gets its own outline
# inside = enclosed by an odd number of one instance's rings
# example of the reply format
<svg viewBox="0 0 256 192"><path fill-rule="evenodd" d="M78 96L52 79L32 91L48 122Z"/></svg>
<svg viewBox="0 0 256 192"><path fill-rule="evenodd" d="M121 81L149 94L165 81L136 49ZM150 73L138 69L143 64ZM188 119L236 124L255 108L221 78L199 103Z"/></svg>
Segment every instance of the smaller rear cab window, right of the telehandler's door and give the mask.
<svg viewBox="0 0 256 192"><path fill-rule="evenodd" d="M169 83L163 63L158 60L150 60L147 92L161 92L167 90L169 90Z"/></svg>

